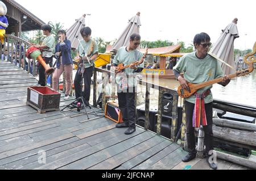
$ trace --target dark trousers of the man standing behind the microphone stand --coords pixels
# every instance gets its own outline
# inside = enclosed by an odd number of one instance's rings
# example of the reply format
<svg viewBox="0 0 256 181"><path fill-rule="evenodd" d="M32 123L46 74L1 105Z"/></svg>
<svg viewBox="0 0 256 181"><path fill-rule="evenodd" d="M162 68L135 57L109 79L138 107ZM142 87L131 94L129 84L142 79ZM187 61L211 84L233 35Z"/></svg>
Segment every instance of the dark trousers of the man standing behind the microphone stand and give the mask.
<svg viewBox="0 0 256 181"><path fill-rule="evenodd" d="M76 99L80 98L81 96L84 98L86 102L90 100L90 79L93 75L93 66L84 70L84 94L82 94L82 74L79 73L79 70L76 72L76 77L74 80L75 84L75 91L76 91Z"/></svg>

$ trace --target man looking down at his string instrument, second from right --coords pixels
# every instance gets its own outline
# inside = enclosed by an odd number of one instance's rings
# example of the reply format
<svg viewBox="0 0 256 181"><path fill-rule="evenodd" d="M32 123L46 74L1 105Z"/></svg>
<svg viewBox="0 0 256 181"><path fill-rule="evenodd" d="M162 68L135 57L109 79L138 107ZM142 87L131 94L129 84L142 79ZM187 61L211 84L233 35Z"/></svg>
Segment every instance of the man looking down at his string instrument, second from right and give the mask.
<svg viewBox="0 0 256 181"><path fill-rule="evenodd" d="M123 73L118 73L117 94L118 104L122 112L123 123L116 125L117 128L128 128L125 134L131 134L136 129L136 114L135 114L135 92L137 87L136 73L139 73L144 68L144 63L135 66L133 62L141 60L143 54L137 50L141 43L141 36L134 33L130 37L130 45L128 47L121 47L114 58L114 70L118 71L118 64L130 65L129 68L124 69Z"/></svg>

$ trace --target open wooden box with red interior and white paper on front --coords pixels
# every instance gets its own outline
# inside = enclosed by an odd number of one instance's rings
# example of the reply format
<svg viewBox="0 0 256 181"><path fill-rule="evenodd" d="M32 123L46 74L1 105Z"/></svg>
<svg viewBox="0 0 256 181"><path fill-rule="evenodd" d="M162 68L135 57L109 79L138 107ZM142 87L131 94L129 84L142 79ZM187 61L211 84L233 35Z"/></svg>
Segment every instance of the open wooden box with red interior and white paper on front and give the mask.
<svg viewBox="0 0 256 181"><path fill-rule="evenodd" d="M27 105L34 107L39 113L59 111L60 93L49 87L28 87Z"/></svg>

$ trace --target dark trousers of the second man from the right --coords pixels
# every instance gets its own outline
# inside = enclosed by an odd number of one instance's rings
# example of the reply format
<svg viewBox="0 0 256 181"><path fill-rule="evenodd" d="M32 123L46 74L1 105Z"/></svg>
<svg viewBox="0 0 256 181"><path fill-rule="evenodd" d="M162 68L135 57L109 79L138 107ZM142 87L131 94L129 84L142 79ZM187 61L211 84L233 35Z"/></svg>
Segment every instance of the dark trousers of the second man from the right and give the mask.
<svg viewBox="0 0 256 181"><path fill-rule="evenodd" d="M136 107L135 107L135 87L131 92L121 92L118 90L118 104L122 112L124 122L129 123L130 128L136 128Z"/></svg>

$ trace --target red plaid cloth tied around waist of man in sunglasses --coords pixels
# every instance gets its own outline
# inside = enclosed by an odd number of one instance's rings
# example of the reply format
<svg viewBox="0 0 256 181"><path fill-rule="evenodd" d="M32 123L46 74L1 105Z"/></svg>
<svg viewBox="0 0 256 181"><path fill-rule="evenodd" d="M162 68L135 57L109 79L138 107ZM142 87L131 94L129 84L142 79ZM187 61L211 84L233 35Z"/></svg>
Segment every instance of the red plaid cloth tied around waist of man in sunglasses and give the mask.
<svg viewBox="0 0 256 181"><path fill-rule="evenodd" d="M210 90L208 89L203 94L195 94L196 96L196 104L193 112L193 127L200 128L200 125L207 126L207 117L205 113L205 104L204 98L210 94Z"/></svg>

